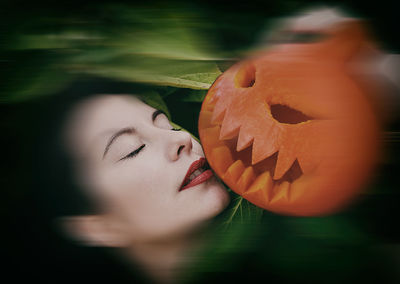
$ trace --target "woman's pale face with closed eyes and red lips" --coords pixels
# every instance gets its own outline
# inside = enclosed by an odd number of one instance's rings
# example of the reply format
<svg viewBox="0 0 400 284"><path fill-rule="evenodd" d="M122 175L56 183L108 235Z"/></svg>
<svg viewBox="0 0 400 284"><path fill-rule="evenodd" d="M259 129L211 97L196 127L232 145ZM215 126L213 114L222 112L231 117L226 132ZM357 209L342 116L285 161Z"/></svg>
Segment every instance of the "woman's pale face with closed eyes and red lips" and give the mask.
<svg viewBox="0 0 400 284"><path fill-rule="evenodd" d="M125 241L179 236L229 202L226 189L201 167L200 144L133 96L81 103L66 137L80 184Z"/></svg>

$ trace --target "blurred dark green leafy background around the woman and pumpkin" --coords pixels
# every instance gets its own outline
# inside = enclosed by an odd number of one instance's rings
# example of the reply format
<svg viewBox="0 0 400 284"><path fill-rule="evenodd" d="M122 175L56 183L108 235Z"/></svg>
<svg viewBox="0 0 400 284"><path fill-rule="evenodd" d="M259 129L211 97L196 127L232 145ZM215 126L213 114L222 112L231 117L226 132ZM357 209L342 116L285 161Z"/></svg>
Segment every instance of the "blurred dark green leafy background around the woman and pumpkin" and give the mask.
<svg viewBox="0 0 400 284"><path fill-rule="evenodd" d="M380 46L400 52L399 12L389 1L2 1L2 247L12 283L130 282L97 251L77 259L78 249L43 221L28 160L32 119L44 101L107 80L124 92L150 90L153 104L197 135L202 99L217 76L262 44L277 19L314 5L368 20ZM385 126L376 178L335 215L279 216L232 194L219 217L226 230L186 280L400 283L399 131L398 120Z"/></svg>

